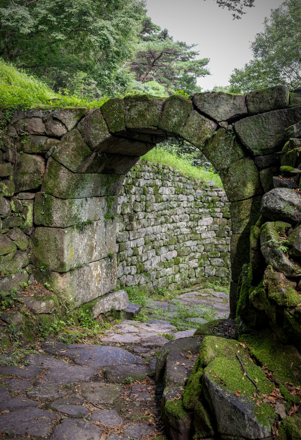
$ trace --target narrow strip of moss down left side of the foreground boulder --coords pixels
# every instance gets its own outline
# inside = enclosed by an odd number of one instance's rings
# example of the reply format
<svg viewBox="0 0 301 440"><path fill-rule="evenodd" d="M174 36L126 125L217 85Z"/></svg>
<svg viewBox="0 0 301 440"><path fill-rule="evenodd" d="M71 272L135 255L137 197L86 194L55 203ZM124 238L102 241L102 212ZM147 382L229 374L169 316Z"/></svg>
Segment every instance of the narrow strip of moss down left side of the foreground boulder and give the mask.
<svg viewBox="0 0 301 440"><path fill-rule="evenodd" d="M204 370L201 365L201 357L198 356L183 392L183 404L187 410L193 410L198 400L201 400L203 374Z"/></svg>

